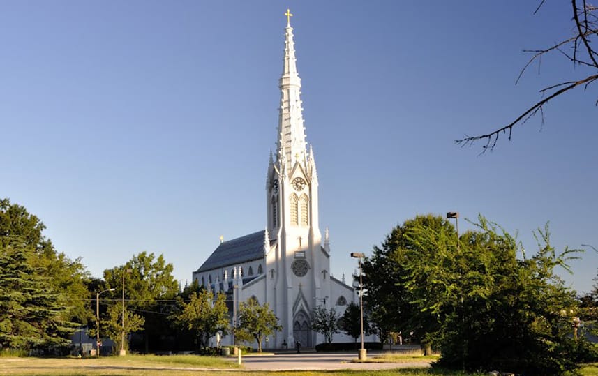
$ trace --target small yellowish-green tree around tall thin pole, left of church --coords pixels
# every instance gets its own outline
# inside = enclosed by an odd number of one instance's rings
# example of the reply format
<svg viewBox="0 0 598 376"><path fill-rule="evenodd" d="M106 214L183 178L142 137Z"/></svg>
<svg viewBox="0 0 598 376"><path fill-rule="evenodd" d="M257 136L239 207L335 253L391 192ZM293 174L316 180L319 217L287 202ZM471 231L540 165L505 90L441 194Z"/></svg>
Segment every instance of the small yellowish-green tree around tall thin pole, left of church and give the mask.
<svg viewBox="0 0 598 376"><path fill-rule="evenodd" d="M125 307L124 326L123 326L123 304L121 301L108 307L105 316L102 319L102 332L114 341L114 351L122 348L128 350L128 336L130 333L143 329L145 323L144 317L131 312ZM124 343L121 342L124 340Z"/></svg>

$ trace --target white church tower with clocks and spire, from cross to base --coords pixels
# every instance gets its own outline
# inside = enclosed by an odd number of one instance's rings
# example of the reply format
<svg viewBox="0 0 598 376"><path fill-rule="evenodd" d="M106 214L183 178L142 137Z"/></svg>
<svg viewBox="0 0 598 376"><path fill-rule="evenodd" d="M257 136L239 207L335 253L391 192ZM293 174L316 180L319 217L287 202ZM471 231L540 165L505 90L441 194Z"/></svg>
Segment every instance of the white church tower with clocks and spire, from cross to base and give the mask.
<svg viewBox="0 0 598 376"><path fill-rule="evenodd" d="M266 184L267 230L276 243L276 254L268 260L268 290L285 328L283 338L287 343L299 340L311 346L317 343L316 333L309 330L311 312L315 306L327 306L330 296L330 253L327 239L322 244L320 234L317 171L313 150L306 142L292 15L288 10L285 15L278 140L276 154L270 153Z"/></svg>

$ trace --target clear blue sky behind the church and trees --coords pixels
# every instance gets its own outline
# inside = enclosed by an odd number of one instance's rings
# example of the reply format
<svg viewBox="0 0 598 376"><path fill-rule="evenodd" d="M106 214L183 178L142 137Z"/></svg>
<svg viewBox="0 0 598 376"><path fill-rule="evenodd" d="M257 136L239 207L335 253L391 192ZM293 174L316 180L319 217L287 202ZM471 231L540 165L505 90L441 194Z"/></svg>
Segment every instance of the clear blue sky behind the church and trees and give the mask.
<svg viewBox="0 0 598 376"><path fill-rule="evenodd" d="M562 56L568 1L1 1L0 197L100 277L144 250L185 283L262 230L286 8L294 14L332 273L418 213L478 213L558 249L598 247L595 87L555 100L492 153L454 139L509 123L585 77ZM592 72L594 73L594 72ZM587 292L598 253L572 262Z"/></svg>

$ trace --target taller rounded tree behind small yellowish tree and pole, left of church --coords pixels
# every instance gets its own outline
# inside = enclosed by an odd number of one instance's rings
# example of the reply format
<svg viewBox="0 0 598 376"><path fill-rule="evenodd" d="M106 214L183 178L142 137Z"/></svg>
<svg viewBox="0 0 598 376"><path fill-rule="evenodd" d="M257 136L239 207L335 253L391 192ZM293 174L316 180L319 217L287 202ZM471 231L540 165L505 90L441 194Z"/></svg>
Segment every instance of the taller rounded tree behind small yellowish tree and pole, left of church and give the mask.
<svg viewBox="0 0 598 376"><path fill-rule="evenodd" d="M104 271L107 288L114 288L113 296L122 296L123 274L125 278L125 298L127 305L138 310L145 319L143 337L145 351L149 351L160 337L170 333L165 315L170 315L172 303L179 292L179 283L172 276L174 267L167 263L163 255L142 252L124 266L116 266ZM152 340L153 339L153 340Z"/></svg>

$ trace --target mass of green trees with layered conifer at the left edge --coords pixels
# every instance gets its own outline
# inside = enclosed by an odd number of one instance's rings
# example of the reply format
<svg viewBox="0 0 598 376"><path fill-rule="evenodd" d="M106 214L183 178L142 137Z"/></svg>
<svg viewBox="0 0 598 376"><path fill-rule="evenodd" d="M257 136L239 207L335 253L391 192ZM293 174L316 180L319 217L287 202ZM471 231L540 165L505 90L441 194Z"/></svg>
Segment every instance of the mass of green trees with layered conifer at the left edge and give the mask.
<svg viewBox="0 0 598 376"><path fill-rule="evenodd" d="M0 344L50 349L91 317L89 273L58 253L38 217L0 200Z"/></svg>

